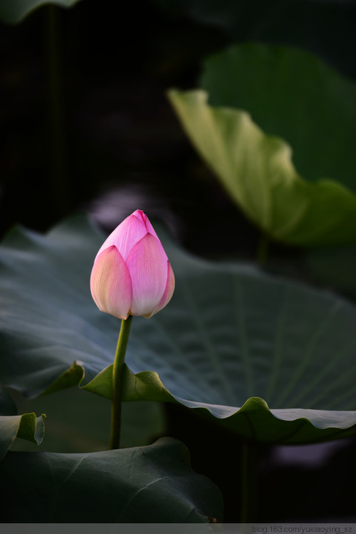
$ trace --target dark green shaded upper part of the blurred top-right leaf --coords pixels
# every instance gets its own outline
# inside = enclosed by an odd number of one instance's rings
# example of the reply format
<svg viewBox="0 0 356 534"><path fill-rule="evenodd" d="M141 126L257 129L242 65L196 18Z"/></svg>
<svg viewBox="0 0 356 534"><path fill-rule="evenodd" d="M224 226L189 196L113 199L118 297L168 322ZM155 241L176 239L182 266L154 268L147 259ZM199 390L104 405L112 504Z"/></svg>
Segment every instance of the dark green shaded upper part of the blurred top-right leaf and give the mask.
<svg viewBox="0 0 356 534"><path fill-rule="evenodd" d="M283 138L310 182L333 178L356 192L356 85L317 56L283 46L231 46L204 61L201 83L214 107L244 109Z"/></svg>

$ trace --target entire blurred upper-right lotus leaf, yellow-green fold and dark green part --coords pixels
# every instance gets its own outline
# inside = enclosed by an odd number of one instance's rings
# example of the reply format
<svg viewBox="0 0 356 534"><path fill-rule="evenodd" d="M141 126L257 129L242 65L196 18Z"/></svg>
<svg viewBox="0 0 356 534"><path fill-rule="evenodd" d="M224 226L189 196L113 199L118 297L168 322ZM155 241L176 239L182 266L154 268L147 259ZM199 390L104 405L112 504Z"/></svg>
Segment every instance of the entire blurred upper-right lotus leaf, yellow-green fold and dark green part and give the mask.
<svg viewBox="0 0 356 534"><path fill-rule="evenodd" d="M355 86L309 54L257 45L210 58L202 85L209 95L170 101L247 217L292 245L355 243Z"/></svg>

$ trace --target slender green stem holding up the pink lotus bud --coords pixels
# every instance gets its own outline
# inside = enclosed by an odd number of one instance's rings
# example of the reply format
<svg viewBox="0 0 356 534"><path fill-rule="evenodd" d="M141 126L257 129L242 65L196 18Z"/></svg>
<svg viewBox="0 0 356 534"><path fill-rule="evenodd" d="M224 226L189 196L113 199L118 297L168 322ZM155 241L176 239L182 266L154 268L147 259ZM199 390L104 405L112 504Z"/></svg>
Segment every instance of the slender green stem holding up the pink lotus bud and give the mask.
<svg viewBox="0 0 356 534"><path fill-rule="evenodd" d="M127 342L130 335L132 315L122 319L117 341L114 367L112 369L111 434L110 448L120 447L122 371L124 369Z"/></svg>

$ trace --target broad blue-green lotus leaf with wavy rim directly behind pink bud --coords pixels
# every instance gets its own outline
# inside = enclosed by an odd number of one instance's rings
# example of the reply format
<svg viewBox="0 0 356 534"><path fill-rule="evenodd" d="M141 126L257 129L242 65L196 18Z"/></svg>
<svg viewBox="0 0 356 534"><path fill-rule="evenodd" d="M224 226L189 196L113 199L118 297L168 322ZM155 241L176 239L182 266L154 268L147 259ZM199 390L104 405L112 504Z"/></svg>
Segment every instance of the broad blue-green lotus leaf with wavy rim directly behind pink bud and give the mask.
<svg viewBox="0 0 356 534"><path fill-rule="evenodd" d="M176 290L162 312L132 322L124 399L179 402L261 441L355 433L355 307L251 266L194 259L159 235ZM6 238L4 384L34 396L81 381L110 397L120 321L99 312L89 290L103 239L85 217Z"/></svg>

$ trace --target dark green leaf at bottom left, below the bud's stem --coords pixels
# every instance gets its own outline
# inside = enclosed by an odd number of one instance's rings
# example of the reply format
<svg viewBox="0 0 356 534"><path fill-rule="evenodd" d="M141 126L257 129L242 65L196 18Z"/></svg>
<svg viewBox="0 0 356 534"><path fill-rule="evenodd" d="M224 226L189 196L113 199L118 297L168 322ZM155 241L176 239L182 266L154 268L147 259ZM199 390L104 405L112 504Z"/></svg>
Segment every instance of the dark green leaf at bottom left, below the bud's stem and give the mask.
<svg viewBox="0 0 356 534"><path fill-rule="evenodd" d="M88 454L9 452L0 464L1 520L17 523L208 523L219 489L195 473L183 443Z"/></svg>

